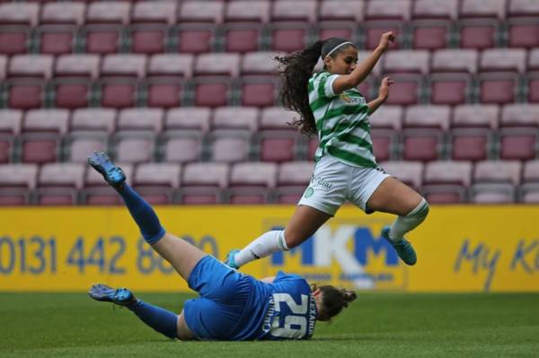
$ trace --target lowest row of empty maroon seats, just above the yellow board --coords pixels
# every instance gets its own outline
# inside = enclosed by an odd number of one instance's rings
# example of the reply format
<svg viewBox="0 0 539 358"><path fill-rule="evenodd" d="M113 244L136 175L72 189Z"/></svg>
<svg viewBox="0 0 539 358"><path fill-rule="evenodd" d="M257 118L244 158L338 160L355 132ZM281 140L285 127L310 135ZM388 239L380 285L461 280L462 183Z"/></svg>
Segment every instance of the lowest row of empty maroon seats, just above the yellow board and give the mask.
<svg viewBox="0 0 539 358"><path fill-rule="evenodd" d="M313 162L119 163L152 204L295 204ZM433 204L539 203L539 161L383 162ZM116 205L119 196L85 164L0 165L0 205Z"/></svg>

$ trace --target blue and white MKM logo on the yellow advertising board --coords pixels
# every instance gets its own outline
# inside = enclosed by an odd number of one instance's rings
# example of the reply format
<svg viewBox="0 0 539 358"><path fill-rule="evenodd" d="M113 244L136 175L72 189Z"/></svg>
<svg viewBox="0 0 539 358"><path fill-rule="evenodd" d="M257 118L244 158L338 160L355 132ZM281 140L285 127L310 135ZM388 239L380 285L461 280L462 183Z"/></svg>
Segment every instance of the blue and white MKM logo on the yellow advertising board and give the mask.
<svg viewBox="0 0 539 358"><path fill-rule="evenodd" d="M405 285L405 268L393 247L373 235L371 228L357 224L323 225L295 249L274 253L271 266L314 281L356 288L395 289Z"/></svg>

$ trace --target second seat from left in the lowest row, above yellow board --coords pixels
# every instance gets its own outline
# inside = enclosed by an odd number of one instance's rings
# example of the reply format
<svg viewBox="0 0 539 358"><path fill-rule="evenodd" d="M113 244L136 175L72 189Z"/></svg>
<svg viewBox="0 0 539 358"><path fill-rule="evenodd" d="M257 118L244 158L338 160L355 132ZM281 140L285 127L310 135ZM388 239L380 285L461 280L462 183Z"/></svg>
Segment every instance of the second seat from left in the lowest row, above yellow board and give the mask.
<svg viewBox="0 0 539 358"><path fill-rule="evenodd" d="M84 184L84 163L43 164L35 200L38 205L75 205Z"/></svg>

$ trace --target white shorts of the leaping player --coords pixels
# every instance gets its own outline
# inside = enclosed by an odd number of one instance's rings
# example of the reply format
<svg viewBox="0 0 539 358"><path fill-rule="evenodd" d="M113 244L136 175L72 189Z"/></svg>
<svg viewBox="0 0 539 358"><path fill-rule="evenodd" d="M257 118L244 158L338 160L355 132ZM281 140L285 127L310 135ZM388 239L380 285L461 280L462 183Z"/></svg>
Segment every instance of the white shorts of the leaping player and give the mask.
<svg viewBox="0 0 539 358"><path fill-rule="evenodd" d="M326 154L314 167L309 187L297 205L335 215L345 200L367 212L367 201L390 175L381 168L355 167Z"/></svg>

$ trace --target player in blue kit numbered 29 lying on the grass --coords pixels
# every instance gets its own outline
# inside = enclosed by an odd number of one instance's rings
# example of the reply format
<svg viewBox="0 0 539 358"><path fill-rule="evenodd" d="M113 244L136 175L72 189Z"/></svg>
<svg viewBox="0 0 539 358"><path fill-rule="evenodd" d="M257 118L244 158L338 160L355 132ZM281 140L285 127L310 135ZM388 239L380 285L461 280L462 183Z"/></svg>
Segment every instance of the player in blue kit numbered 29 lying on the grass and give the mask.
<svg viewBox="0 0 539 358"><path fill-rule="evenodd" d="M90 297L125 306L157 332L181 340L308 339L316 320L330 320L356 293L309 285L299 275L279 272L261 281L243 275L185 240L164 231L148 203L125 182L107 154L93 153L90 165L115 188L142 236L166 259L199 298L186 301L180 315L135 298L126 288L93 284Z"/></svg>

